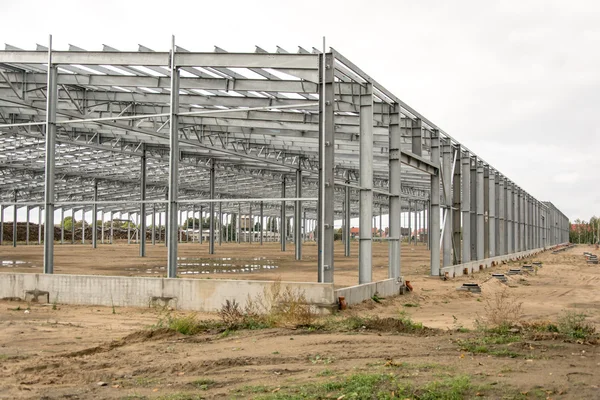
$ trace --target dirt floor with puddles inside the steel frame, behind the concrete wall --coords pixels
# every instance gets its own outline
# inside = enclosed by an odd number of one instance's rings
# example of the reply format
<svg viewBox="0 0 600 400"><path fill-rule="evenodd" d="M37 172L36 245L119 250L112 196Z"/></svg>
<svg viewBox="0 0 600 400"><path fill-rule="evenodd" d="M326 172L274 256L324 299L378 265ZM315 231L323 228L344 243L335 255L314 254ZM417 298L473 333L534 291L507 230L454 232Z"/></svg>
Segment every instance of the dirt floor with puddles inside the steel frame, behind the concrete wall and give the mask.
<svg viewBox="0 0 600 400"><path fill-rule="evenodd" d="M353 241L351 257L344 257L341 242L335 246L335 284L358 284L358 242ZM306 242L302 260L296 261L294 244L282 252L279 243L223 243L208 254L207 243L179 245L178 275L199 279L254 279L283 281L317 281L317 245ZM118 242L113 245L65 244L54 246L54 272L57 274L166 276L167 248L164 243L147 246L147 256L139 257L139 246ZM0 246L0 272L42 272L43 246ZM373 243L373 279L387 278L387 243ZM405 274L423 274L429 269L429 251L424 244L402 245ZM242 271L247 270L247 271ZM206 272L206 273L203 273Z"/></svg>

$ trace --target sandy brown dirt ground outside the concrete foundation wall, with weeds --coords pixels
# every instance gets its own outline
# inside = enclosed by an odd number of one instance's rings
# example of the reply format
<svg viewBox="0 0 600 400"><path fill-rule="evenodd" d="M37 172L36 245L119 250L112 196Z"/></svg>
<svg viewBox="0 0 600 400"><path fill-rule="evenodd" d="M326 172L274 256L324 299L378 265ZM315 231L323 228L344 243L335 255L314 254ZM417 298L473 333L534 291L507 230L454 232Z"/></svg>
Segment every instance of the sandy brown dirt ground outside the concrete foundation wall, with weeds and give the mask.
<svg viewBox="0 0 600 400"><path fill-rule="evenodd" d="M183 245L182 253L189 246ZM309 248L305 247L307 259L314 256ZM128 252L126 262L139 263L135 250L127 246L102 248L98 254L117 249ZM1 250L6 259L6 249ZM403 250L406 261L413 252ZM383 251L382 246L376 257ZM536 273L511 276L507 284L491 278L491 272L505 272L515 264L441 281L427 277L426 268L420 266L423 261L415 257L412 267L404 269L414 285L412 293L379 303L367 301L324 318L379 317L373 326L365 323L354 329L297 327L185 336L156 328L167 315L183 315L175 311L0 301L0 398L597 399L597 340L550 332L521 335L515 328L516 336L499 341L474 329L476 319L494 313L499 293L521 303L519 326L561 321L561 315L570 311L585 314L586 321L600 329L600 267L586 264L583 251L598 253L584 246L544 253L537 257L543 266ZM158 249L150 253L152 260L161 258ZM422 249L414 253L426 254ZM25 256L19 254L18 260ZM38 255L29 257L39 262ZM102 257L77 266L60 246L57 260L57 272L114 272ZM342 270L338 276L351 280L344 270L356 262L347 263L348 267L338 263ZM281 262L277 270L251 275L283 275L287 268L292 266ZM295 275L314 280L312 267L293 268ZM385 272L376 267L374 274ZM479 283L482 293L457 291L464 282ZM390 328L390 321L394 325L407 318L434 329L398 333Z"/></svg>

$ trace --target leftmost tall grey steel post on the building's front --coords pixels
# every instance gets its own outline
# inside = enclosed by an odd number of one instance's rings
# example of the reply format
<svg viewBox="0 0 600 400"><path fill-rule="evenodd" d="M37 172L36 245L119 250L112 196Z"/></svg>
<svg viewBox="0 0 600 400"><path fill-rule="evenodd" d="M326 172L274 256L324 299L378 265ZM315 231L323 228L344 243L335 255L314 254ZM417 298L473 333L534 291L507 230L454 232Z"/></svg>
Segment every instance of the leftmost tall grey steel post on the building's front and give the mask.
<svg viewBox="0 0 600 400"><path fill-rule="evenodd" d="M58 68L52 62L52 36L48 43L48 81L46 85L46 160L44 165L44 273L54 273L54 166L56 147L56 108ZM15 219L16 221L16 219ZM15 242L16 245L16 242Z"/></svg>

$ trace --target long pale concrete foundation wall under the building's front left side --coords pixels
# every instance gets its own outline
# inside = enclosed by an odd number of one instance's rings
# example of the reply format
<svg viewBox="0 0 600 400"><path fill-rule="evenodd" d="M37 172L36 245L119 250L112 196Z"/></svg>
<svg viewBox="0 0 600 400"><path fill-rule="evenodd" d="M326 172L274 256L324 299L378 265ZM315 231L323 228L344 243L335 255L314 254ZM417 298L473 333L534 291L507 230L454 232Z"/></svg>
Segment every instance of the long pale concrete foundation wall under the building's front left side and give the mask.
<svg viewBox="0 0 600 400"><path fill-rule="evenodd" d="M217 311L225 300L241 307L248 297L270 291L272 281L167 279L97 275L0 273L0 298L18 297L59 304L148 307L153 304L181 310ZM335 305L333 284L281 282L303 293L317 311Z"/></svg>

